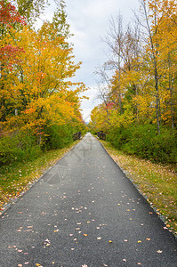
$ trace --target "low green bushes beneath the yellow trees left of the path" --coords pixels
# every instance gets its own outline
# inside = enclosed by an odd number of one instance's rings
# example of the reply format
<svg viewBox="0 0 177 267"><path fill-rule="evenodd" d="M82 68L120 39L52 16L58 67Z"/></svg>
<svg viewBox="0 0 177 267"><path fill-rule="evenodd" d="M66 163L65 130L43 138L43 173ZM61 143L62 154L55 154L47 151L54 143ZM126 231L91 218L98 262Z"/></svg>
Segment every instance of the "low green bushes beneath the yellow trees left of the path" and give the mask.
<svg viewBox="0 0 177 267"><path fill-rule="evenodd" d="M18 132L5 135L0 139L0 166L14 161L33 160L43 150L58 150L73 142L73 134L85 132L84 124L46 125L42 142L37 145L36 134Z"/></svg>

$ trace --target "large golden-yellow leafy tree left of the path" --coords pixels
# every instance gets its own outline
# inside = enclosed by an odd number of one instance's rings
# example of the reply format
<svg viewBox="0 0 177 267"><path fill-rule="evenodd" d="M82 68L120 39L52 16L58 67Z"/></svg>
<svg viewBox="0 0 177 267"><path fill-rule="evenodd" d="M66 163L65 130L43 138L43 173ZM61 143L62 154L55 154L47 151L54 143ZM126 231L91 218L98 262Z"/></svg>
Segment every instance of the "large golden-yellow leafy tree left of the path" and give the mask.
<svg viewBox="0 0 177 267"><path fill-rule="evenodd" d="M31 129L40 144L46 124L80 120L78 94L85 88L70 82L80 62L74 62L73 48L68 44L64 6L61 12L54 13L52 22L44 22L38 31L22 25L19 12L14 7L12 11L14 21L23 28L12 28L11 15L3 35L4 43L13 46L4 46L5 53L1 53L1 121L7 131Z"/></svg>

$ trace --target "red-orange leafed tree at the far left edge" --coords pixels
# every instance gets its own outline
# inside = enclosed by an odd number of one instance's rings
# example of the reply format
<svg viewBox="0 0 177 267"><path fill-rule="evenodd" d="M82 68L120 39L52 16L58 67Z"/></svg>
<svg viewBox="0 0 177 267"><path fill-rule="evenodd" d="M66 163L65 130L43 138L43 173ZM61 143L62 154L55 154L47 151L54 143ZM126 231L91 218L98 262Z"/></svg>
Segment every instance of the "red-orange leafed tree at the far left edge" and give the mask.
<svg viewBox="0 0 177 267"><path fill-rule="evenodd" d="M4 122L12 109L11 84L17 80L16 66L25 53L23 47L16 44L15 36L25 21L8 1L0 1L0 6L0 121Z"/></svg>

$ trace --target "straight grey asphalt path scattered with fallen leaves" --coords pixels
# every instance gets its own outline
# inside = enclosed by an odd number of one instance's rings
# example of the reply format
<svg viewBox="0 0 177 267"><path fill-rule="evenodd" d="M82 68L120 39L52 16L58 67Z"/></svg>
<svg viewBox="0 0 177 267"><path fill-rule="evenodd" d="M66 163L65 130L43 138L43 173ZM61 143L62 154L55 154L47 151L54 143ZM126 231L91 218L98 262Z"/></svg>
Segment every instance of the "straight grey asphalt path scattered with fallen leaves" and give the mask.
<svg viewBox="0 0 177 267"><path fill-rule="evenodd" d="M177 242L86 134L0 220L0 266L177 266ZM37 265L38 264L38 265Z"/></svg>

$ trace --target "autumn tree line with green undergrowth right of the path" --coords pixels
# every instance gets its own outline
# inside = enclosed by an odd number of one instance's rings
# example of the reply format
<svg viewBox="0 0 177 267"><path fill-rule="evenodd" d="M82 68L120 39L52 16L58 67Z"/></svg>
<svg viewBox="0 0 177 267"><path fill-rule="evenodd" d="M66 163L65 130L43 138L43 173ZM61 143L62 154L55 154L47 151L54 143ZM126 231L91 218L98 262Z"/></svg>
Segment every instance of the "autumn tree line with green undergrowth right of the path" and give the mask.
<svg viewBox="0 0 177 267"><path fill-rule="evenodd" d="M97 69L102 103L90 124L118 149L169 163L177 162L176 34L175 0L141 0L128 26L121 15L110 20L109 61Z"/></svg>

